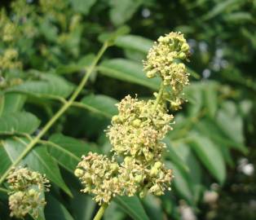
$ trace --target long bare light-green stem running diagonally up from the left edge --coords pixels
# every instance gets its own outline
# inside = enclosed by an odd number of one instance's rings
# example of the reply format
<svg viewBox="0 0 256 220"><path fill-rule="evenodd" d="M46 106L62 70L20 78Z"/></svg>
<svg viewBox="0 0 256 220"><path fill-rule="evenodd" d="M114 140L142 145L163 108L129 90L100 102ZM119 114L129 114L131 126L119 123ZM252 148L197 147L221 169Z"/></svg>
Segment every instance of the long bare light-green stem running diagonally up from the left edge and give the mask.
<svg viewBox="0 0 256 220"><path fill-rule="evenodd" d="M20 154L20 156L12 163L12 165L7 169L7 171L2 174L2 177L0 178L0 184L7 178L8 173L11 170L11 167L16 166L20 163L20 161L26 156L30 150L35 146L36 143L38 143L38 140L42 138L44 134L51 128L51 126L57 121L60 116L73 104L73 101L77 98L77 95L81 92L82 88L86 85L86 82L88 81L91 73L95 69L96 64L99 62L99 59L104 54L104 51L106 51L108 48L108 42L105 42L104 45L100 48L98 55L95 57L92 64L90 64L90 67L87 70L87 73L82 78L82 81L77 86L77 89L73 92L73 95L71 95L70 99L68 99L67 102L64 103L62 108L58 112L55 113L55 115L51 118L50 121L46 123L46 125L42 128L42 130L38 133L38 135L30 141L30 143L27 145L27 147L24 149L24 152Z"/></svg>

